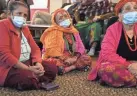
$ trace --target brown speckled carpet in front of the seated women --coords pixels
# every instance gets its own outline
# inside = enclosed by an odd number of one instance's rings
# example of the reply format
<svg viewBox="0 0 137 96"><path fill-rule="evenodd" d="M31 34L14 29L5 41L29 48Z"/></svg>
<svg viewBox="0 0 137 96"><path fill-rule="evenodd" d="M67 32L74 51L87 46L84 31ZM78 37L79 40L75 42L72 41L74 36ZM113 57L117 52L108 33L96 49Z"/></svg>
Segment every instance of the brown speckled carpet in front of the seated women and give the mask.
<svg viewBox="0 0 137 96"><path fill-rule="evenodd" d="M136 88L112 88L87 81L88 72L73 71L64 76L57 76L55 82L58 90L32 90L19 92L13 89L0 88L0 96L137 96Z"/></svg>

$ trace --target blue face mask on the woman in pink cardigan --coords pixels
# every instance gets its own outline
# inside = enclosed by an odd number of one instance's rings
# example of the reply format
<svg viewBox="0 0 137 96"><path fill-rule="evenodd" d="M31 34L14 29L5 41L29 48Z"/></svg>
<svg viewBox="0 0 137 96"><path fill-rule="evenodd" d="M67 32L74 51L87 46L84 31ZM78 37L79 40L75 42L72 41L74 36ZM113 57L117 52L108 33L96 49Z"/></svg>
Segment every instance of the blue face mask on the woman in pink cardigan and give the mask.
<svg viewBox="0 0 137 96"><path fill-rule="evenodd" d="M132 25L137 22L137 12L127 12L123 15L123 23L127 25Z"/></svg>

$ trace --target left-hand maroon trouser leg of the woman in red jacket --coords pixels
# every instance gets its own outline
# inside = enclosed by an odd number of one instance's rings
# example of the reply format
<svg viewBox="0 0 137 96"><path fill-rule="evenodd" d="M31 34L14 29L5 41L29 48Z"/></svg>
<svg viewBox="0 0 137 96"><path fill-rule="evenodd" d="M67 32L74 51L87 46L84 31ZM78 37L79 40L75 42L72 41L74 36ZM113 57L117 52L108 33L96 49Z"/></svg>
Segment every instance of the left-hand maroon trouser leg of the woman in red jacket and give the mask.
<svg viewBox="0 0 137 96"><path fill-rule="evenodd" d="M30 71L12 68L7 75L4 86L19 90L20 88L24 90L37 89L38 80Z"/></svg>

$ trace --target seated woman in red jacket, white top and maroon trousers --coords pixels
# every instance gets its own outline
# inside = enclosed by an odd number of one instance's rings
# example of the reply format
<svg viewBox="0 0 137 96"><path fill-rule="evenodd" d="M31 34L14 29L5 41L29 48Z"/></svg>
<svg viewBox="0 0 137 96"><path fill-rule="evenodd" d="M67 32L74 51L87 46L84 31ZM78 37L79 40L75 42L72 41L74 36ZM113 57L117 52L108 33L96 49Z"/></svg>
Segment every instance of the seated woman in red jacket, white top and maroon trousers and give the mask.
<svg viewBox="0 0 137 96"><path fill-rule="evenodd" d="M40 89L55 79L57 67L41 59L26 23L28 7L19 1L8 6L9 18L0 21L0 86Z"/></svg>

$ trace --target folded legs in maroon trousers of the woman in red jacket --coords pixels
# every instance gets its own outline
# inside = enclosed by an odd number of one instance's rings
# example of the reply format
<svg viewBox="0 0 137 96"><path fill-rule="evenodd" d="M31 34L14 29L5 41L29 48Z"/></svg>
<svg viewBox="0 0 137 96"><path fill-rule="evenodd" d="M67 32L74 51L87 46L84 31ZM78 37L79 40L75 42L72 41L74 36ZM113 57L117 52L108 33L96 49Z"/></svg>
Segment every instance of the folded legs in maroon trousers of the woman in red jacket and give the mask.
<svg viewBox="0 0 137 96"><path fill-rule="evenodd" d="M4 86L16 89L22 88L23 90L38 89L40 82L48 83L53 81L57 74L56 66L44 61L42 65L45 69L45 74L39 78L31 71L12 68L7 75Z"/></svg>

